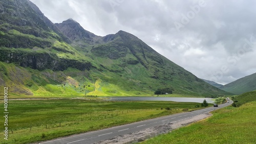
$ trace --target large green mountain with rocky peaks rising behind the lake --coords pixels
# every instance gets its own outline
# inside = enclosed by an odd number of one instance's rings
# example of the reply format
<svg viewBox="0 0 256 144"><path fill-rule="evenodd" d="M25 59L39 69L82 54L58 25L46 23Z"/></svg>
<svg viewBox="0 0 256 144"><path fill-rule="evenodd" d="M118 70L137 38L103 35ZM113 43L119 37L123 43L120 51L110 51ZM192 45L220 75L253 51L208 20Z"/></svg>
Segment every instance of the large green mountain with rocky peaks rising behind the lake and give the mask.
<svg viewBox="0 0 256 144"><path fill-rule="evenodd" d="M0 88L13 95L230 94L130 33L97 36L73 19L53 24L27 0L0 0L0 45Z"/></svg>

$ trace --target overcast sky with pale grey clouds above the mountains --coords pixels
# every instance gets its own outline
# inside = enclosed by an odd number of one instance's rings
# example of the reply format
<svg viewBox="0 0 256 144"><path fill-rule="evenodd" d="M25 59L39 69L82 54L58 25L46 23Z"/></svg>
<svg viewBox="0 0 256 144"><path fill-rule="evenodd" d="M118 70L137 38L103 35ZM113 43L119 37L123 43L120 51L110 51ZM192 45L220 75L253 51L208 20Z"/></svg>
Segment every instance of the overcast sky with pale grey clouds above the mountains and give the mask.
<svg viewBox="0 0 256 144"><path fill-rule="evenodd" d="M199 78L256 73L256 1L30 0L53 23L73 18L99 36L129 32Z"/></svg>

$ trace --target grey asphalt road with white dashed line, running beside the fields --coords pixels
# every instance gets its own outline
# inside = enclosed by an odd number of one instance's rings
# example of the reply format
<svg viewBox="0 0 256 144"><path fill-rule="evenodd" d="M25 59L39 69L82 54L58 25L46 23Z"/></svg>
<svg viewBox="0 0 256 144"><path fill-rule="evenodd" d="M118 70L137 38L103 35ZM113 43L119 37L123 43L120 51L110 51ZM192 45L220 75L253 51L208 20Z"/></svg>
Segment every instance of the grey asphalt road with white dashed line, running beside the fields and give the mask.
<svg viewBox="0 0 256 144"><path fill-rule="evenodd" d="M129 133L141 131L143 129L160 126L163 124L167 124L170 122L178 121L180 119L193 117L201 113L207 113L216 109L220 109L223 107L226 107L228 105L231 105L233 101L229 101L229 103L221 104L219 107L209 107L201 110L191 111L191 112L184 112L169 116L163 116L159 118L149 119L146 121L136 122L132 124L112 127L108 129L98 130L98 131L92 131L87 132L83 134L53 139L49 141L40 142L40 144L58 144L58 143L65 143L65 144L85 144L85 143L95 143L102 140L111 139L118 135L126 135Z"/></svg>

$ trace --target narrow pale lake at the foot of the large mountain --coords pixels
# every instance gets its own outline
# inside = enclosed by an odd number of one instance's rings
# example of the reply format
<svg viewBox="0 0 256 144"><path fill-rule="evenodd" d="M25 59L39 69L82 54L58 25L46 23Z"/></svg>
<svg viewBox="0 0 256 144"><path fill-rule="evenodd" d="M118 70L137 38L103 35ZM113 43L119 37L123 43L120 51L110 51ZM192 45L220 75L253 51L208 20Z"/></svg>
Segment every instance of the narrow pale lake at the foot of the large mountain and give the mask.
<svg viewBox="0 0 256 144"><path fill-rule="evenodd" d="M206 100L208 103L214 103L211 98L179 98L179 97L106 97L106 101L173 101L173 102L194 102L203 103Z"/></svg>

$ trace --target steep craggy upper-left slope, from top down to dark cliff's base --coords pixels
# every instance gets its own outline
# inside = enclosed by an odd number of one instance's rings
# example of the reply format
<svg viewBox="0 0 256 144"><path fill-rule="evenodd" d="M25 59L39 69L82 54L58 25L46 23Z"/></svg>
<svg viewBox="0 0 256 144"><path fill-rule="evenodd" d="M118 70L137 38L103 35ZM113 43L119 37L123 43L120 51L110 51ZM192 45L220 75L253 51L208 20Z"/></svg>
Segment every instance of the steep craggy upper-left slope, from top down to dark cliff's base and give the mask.
<svg viewBox="0 0 256 144"><path fill-rule="evenodd" d="M0 60L39 70L89 69L90 60L70 46L65 35L55 33L57 27L47 24L30 5L27 0L0 1Z"/></svg>

